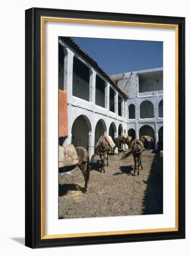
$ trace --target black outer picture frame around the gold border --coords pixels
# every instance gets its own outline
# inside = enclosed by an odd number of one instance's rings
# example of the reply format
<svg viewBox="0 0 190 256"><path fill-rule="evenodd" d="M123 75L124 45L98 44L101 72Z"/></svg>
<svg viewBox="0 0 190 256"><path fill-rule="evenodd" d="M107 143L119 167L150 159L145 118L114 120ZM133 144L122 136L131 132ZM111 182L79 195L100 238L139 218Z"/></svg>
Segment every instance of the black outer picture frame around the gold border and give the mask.
<svg viewBox="0 0 190 256"><path fill-rule="evenodd" d="M178 27L178 230L42 238L41 17L171 24ZM185 18L31 8L25 11L25 245L30 248L185 238Z"/></svg>

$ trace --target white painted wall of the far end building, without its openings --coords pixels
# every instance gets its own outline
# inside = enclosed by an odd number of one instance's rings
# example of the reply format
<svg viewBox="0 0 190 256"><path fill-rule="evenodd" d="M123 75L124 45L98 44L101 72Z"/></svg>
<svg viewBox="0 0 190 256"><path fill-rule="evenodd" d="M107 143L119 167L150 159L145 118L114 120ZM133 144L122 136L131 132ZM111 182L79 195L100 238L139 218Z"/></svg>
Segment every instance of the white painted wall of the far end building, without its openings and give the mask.
<svg viewBox="0 0 190 256"><path fill-rule="evenodd" d="M139 76L143 77L143 85L153 82L154 86L151 88L156 90L139 93ZM111 78L114 81L118 81L118 87L129 95L126 102L127 131L130 128L133 128L136 132L136 138L139 139L139 129L144 125L151 126L155 133L154 141L156 146L158 142L158 129L163 126L163 115L160 115L160 117L158 116L158 105L159 102L163 100L163 68L114 74L111 75ZM144 101L150 102L150 105L148 103L143 103ZM135 106L135 119L128 118L128 107L131 104L134 104ZM160 110L163 111L163 108L160 107Z"/></svg>

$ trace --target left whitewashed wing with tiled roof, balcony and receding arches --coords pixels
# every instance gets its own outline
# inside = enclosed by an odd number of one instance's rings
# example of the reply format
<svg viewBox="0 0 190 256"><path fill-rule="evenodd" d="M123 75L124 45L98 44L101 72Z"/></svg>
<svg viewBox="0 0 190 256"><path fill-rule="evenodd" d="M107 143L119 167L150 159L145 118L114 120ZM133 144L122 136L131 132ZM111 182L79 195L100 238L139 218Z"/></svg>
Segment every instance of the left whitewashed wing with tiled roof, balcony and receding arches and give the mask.
<svg viewBox="0 0 190 256"><path fill-rule="evenodd" d="M59 89L67 91L68 131L61 144L88 149L101 135L127 134L127 98L101 67L72 39L59 37Z"/></svg>

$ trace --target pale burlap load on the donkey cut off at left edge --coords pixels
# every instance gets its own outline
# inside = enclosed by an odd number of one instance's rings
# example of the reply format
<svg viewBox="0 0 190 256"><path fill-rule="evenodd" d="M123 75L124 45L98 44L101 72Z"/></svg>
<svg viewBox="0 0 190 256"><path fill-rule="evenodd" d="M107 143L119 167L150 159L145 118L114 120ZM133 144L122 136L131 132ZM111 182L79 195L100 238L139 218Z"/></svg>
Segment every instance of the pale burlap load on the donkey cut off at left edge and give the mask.
<svg viewBox="0 0 190 256"><path fill-rule="evenodd" d="M72 144L63 148L59 146L59 168L77 165L79 163L76 149Z"/></svg>

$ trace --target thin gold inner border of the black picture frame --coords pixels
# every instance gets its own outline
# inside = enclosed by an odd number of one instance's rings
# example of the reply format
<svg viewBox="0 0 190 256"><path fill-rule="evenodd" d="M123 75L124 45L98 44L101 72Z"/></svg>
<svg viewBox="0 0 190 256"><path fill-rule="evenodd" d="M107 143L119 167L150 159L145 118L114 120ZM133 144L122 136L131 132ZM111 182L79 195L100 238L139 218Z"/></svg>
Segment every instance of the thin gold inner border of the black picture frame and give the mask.
<svg viewBox="0 0 190 256"><path fill-rule="evenodd" d="M72 22L72 23L88 23L88 24L102 24L102 25L120 25L132 27L162 27L175 28L175 108L176 108L176 221L175 228L164 229L140 229L140 230L124 230L124 231L109 231L109 232L93 232L93 233L75 233L75 234L61 234L61 235L45 235L45 159L44 159L44 123L45 123L45 109L44 109L44 87L45 87L45 60L44 60L44 45L45 45L45 21L57 22ZM174 232L178 231L178 25L173 24L155 24L142 22L127 22L127 21L111 21L111 20L88 20L88 19L72 19L72 18L56 18L56 17L41 17L41 239L56 239L56 238L71 238L71 237L87 237L87 236L112 236L112 235L127 235L127 234L143 234L143 233L158 233L158 232Z"/></svg>

